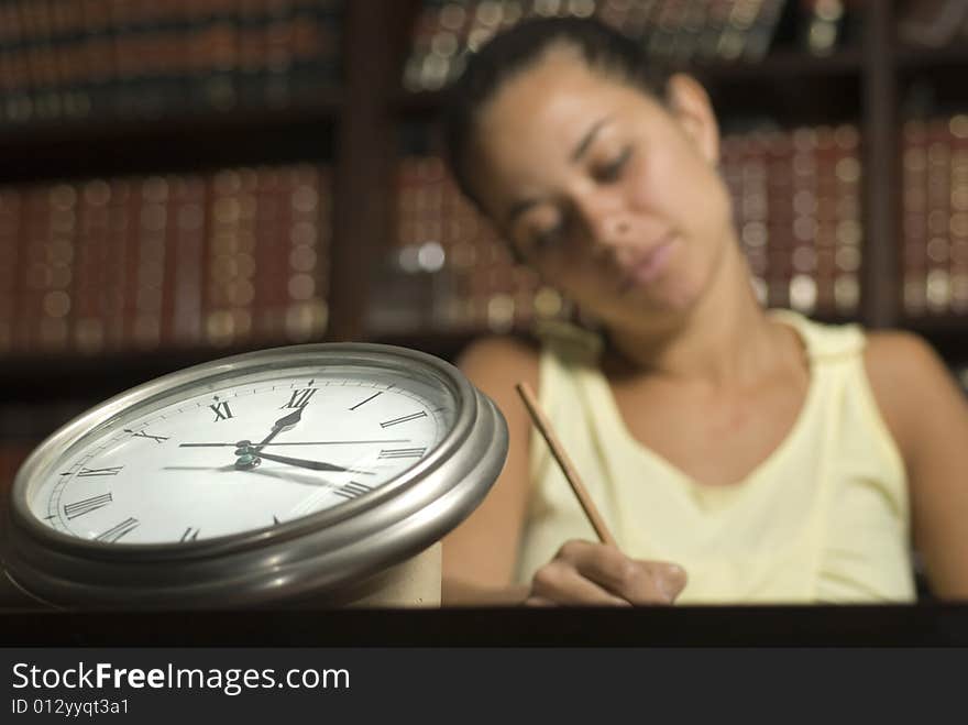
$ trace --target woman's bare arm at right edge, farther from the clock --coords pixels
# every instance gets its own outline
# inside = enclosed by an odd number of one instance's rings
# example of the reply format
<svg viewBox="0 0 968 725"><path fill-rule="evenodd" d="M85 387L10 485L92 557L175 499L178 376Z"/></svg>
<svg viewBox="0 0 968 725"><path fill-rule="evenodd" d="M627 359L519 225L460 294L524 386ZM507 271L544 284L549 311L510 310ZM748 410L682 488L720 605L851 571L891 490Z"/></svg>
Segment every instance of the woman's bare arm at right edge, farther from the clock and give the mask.
<svg viewBox="0 0 968 725"><path fill-rule="evenodd" d="M914 545L933 593L968 598L968 403L932 348L870 337L867 371L908 466Z"/></svg>

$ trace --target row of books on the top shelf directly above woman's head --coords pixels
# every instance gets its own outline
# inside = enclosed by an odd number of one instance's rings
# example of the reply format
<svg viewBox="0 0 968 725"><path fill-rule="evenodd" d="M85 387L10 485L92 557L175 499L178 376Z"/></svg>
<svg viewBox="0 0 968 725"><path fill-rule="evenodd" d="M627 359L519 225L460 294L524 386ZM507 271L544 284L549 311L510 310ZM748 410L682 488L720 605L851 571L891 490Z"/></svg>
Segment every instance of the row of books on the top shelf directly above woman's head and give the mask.
<svg viewBox="0 0 968 725"><path fill-rule="evenodd" d="M597 17L657 58L761 59L783 0L424 0L411 31L404 86L437 90L460 75L468 53L529 17Z"/></svg>

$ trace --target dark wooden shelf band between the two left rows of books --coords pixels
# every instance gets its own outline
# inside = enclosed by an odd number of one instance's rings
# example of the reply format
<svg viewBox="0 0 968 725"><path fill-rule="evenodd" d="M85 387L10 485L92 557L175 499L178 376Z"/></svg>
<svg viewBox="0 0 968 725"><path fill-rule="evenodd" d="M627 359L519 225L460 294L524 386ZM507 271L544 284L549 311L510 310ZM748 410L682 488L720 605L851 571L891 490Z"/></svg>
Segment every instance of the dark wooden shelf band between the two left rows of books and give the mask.
<svg viewBox="0 0 968 725"><path fill-rule="evenodd" d="M339 90L279 109L0 129L0 183L329 160Z"/></svg>

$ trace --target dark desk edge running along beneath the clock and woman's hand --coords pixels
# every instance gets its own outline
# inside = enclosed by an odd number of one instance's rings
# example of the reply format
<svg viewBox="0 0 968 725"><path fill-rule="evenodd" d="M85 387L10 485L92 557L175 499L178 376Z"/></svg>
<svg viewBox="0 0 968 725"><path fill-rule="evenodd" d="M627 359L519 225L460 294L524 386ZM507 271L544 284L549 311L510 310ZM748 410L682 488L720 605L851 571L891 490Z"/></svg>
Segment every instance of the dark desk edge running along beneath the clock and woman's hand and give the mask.
<svg viewBox="0 0 968 725"><path fill-rule="evenodd" d="M968 604L615 608L37 612L0 646L968 646Z"/></svg>

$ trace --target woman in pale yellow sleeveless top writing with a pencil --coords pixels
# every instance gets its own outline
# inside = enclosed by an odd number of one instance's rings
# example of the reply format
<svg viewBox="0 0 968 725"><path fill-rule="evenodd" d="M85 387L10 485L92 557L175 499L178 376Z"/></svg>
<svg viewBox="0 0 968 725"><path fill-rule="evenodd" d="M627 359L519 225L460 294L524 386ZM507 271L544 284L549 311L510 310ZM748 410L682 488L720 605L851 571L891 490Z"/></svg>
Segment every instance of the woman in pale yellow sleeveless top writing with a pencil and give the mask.
<svg viewBox="0 0 968 725"><path fill-rule="evenodd" d="M695 80L559 19L492 41L452 96L462 189L604 332L462 355L510 450L444 540L446 603L904 602L912 546L936 595L968 595L959 389L912 334L761 309ZM620 550L594 542L518 381Z"/></svg>

